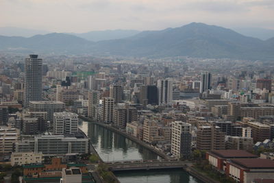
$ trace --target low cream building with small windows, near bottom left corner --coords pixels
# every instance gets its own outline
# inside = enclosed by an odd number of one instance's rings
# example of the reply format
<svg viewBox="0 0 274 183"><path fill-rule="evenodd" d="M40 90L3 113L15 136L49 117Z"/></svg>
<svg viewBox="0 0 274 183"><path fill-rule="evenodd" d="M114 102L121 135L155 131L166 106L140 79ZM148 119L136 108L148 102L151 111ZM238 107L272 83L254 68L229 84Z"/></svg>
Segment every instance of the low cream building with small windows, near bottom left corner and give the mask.
<svg viewBox="0 0 274 183"><path fill-rule="evenodd" d="M32 163L42 163L44 162L44 157L42 153L34 152L12 152L10 156L10 164L14 165L23 165L23 164L32 164Z"/></svg>

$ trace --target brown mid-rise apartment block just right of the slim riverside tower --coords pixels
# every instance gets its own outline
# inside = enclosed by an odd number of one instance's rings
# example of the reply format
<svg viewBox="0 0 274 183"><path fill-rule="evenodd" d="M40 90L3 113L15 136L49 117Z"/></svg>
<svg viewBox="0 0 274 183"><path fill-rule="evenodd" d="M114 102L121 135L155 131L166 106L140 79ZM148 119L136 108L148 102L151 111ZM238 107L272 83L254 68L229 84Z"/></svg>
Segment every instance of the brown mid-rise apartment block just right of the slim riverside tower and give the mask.
<svg viewBox="0 0 274 183"><path fill-rule="evenodd" d="M137 109L134 107L129 107L128 103L124 106L117 106L114 108L114 125L125 129L127 123L132 121L137 121L138 114Z"/></svg>

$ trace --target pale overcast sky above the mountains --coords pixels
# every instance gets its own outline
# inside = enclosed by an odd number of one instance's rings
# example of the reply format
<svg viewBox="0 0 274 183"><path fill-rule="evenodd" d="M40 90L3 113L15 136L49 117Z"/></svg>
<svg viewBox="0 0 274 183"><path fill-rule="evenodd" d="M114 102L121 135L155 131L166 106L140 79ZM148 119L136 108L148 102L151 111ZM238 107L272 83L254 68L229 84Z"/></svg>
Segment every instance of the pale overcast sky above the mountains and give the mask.
<svg viewBox="0 0 274 183"><path fill-rule="evenodd" d="M0 0L0 27L88 32L191 22L274 29L274 0Z"/></svg>

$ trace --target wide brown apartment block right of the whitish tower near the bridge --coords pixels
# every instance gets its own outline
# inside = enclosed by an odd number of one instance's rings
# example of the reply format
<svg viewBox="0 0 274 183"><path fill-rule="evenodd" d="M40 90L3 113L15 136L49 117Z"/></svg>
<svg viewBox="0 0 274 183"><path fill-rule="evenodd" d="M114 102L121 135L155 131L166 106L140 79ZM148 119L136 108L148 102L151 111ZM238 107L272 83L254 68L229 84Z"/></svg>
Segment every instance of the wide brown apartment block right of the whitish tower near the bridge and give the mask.
<svg viewBox="0 0 274 183"><path fill-rule="evenodd" d="M200 125L197 130L197 149L225 149L225 133L214 125Z"/></svg>

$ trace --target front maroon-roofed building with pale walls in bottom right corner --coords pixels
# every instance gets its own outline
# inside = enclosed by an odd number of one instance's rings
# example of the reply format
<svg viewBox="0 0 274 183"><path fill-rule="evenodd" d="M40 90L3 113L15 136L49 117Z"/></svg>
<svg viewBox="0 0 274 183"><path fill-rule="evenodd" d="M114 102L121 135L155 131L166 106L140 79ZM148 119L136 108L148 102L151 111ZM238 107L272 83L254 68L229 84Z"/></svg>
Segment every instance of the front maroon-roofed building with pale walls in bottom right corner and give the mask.
<svg viewBox="0 0 274 183"><path fill-rule="evenodd" d="M274 161L269 159L232 159L227 161L225 173L240 183L274 178Z"/></svg>

